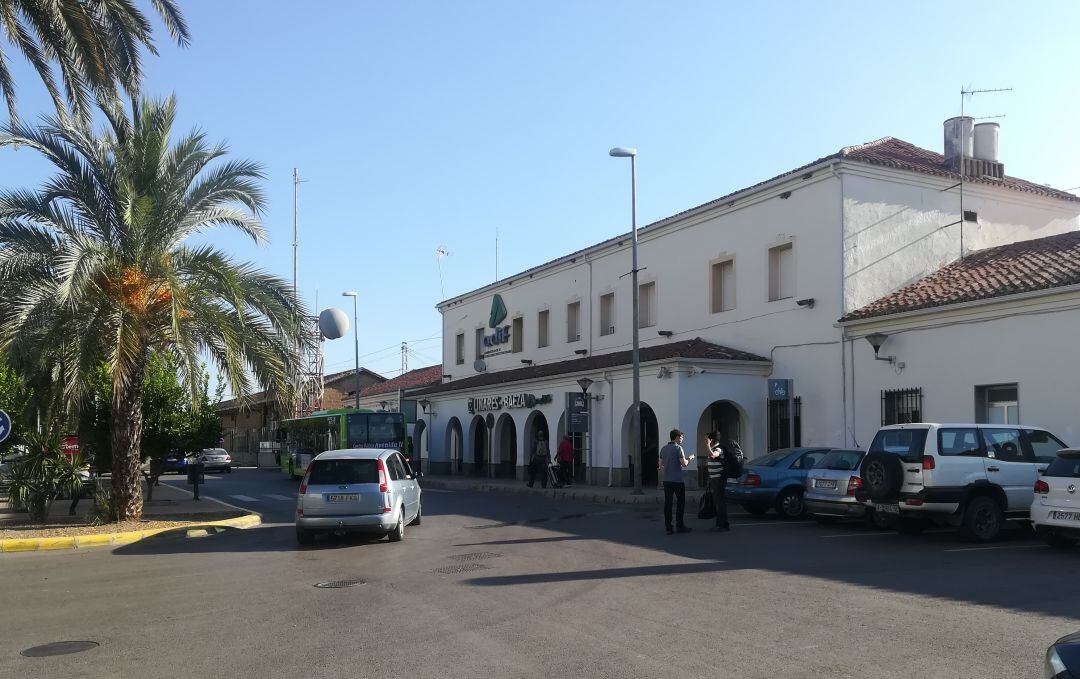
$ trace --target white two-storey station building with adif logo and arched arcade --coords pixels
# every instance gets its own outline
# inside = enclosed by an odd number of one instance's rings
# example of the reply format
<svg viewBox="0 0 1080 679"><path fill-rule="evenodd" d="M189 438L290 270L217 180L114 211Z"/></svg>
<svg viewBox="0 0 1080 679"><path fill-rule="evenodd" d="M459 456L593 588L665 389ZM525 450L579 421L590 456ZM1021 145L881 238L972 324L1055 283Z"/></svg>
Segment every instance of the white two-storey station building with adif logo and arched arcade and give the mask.
<svg viewBox="0 0 1080 679"><path fill-rule="evenodd" d="M539 431L554 448L573 429L582 378L591 434L571 438L590 483L629 484L635 439L654 483L672 427L690 452L706 431L751 456L863 443L852 372L873 349L838 320L961 253L1080 226L1077 196L963 153L887 137L640 229L636 433L629 234L440 303L443 383L410 392L430 471L522 477Z"/></svg>

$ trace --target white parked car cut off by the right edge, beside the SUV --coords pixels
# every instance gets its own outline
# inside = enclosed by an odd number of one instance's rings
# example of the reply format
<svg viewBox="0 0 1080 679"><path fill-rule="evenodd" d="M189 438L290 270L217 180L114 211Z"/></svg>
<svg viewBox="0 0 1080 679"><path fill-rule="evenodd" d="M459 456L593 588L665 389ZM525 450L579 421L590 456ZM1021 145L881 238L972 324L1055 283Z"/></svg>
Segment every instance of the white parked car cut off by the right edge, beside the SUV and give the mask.
<svg viewBox="0 0 1080 679"><path fill-rule="evenodd" d="M1080 448L1057 452L1035 481L1031 525L1047 544L1071 547L1080 541Z"/></svg>

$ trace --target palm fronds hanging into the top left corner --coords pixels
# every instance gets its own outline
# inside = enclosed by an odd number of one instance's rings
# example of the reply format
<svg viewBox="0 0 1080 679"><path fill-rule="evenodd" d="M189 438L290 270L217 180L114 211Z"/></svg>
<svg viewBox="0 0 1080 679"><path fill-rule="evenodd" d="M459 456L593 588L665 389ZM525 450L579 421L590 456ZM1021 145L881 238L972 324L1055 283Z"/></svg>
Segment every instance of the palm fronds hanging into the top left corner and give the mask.
<svg viewBox="0 0 1080 679"><path fill-rule="evenodd" d="M188 27L175 0L152 0L170 35L184 46ZM33 66L57 111L89 117L93 95L113 98L117 83L135 96L143 77L139 50L158 54L150 22L134 0L0 0L0 28ZM53 69L59 70L64 96ZM15 81L0 50L0 92L13 123Z"/></svg>

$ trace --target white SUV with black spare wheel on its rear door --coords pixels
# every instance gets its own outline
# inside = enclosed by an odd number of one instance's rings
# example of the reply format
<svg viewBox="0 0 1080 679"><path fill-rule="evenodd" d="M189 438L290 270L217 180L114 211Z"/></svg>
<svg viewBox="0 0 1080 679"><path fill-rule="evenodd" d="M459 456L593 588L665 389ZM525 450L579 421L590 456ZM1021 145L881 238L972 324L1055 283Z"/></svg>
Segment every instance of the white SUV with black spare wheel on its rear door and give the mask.
<svg viewBox="0 0 1080 679"><path fill-rule="evenodd" d="M860 471L861 501L896 517L901 532L929 521L997 539L1030 516L1035 481L1065 448L1050 432L1009 424L893 424L874 437Z"/></svg>

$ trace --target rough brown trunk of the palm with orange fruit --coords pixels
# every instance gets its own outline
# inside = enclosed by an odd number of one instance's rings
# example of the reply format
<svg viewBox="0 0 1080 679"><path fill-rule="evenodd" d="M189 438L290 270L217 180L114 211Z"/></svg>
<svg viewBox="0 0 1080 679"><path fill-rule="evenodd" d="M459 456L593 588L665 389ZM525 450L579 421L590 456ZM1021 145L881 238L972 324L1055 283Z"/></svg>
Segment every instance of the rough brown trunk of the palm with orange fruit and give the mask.
<svg viewBox="0 0 1080 679"><path fill-rule="evenodd" d="M122 383L112 386L112 519L143 518L143 481L139 474L143 440L143 385L146 382L146 353Z"/></svg>

